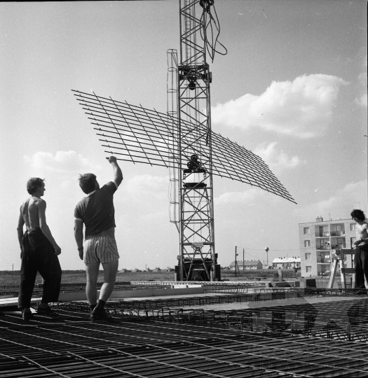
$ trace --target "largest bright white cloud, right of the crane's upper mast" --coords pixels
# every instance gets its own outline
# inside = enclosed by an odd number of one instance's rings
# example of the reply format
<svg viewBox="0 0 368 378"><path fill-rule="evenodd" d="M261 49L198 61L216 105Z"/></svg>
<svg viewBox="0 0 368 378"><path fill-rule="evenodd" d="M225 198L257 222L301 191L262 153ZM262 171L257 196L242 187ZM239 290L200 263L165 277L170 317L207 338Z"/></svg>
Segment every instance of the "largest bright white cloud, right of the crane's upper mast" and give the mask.
<svg viewBox="0 0 368 378"><path fill-rule="evenodd" d="M214 106L212 122L243 129L260 127L300 138L316 137L332 121L341 85L348 83L324 74L273 81L259 96L245 94Z"/></svg>

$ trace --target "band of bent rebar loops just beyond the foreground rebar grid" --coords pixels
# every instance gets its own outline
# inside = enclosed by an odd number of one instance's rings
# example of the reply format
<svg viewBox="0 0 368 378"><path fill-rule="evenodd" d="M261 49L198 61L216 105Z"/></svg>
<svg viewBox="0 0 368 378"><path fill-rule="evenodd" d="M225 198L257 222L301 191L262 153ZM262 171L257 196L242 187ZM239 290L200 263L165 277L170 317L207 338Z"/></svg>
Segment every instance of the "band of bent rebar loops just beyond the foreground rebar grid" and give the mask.
<svg viewBox="0 0 368 378"><path fill-rule="evenodd" d="M215 297L214 303L217 303L216 299ZM272 307L266 307L267 303L264 307L259 307L259 304L261 303L258 302L258 307L255 308L251 307L251 303L245 309L211 310L125 307L125 303L111 302L109 308L117 316L137 315L249 332L291 332L327 339L368 342L368 299L313 304L299 301L298 304L289 305L285 302L285 305ZM58 306L84 311L86 304L64 303Z"/></svg>

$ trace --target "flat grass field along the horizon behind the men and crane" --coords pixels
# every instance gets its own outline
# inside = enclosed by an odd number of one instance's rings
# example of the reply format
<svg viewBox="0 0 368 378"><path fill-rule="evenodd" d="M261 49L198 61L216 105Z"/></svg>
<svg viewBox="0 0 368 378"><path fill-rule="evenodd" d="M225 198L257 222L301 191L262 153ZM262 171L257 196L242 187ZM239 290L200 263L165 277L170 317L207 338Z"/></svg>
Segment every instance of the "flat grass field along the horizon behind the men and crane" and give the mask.
<svg viewBox="0 0 368 378"><path fill-rule="evenodd" d="M298 274L299 273L299 274ZM300 276L300 272L297 276ZM272 279L278 276L278 272L273 269L253 270L237 273L237 277L255 279L268 278ZM291 278L296 274L293 269L282 270L282 276ZM222 279L234 279L236 278L235 272L230 270L222 271ZM104 274L102 270L98 276L98 281L103 281ZM116 275L116 281L174 281L174 272L118 272ZM18 286L20 283L20 271L3 270L0 271L0 286ZM42 278L39 274L36 276L36 283L42 283ZM64 270L62 272L62 283L86 283L86 271L85 270Z"/></svg>

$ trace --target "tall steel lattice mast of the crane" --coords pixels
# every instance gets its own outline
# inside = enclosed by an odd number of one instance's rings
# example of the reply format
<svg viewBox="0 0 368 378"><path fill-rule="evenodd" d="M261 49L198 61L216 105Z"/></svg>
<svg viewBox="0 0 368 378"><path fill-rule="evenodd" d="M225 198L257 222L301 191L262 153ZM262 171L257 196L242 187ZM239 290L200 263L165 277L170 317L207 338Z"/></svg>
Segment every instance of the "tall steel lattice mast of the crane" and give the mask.
<svg viewBox="0 0 368 378"><path fill-rule="evenodd" d="M213 1L180 0L177 67L179 137L179 275L181 281L216 279L210 117L210 66L205 19ZM182 128L182 123L190 125ZM185 133L193 136L191 143ZM203 154L203 144L207 153ZM198 269L198 270L197 270ZM197 271L196 271L197 270Z"/></svg>

